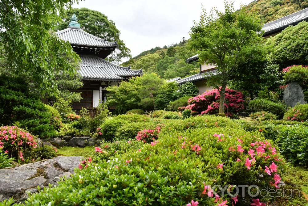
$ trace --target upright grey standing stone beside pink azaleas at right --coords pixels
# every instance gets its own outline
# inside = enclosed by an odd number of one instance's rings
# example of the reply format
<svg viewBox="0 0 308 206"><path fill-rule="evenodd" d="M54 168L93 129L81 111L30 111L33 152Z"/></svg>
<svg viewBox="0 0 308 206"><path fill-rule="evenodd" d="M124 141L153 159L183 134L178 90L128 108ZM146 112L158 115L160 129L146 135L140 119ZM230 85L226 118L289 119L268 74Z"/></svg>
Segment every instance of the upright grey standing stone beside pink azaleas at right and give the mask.
<svg viewBox="0 0 308 206"><path fill-rule="evenodd" d="M297 103L306 104L304 92L297 82L292 82L286 86L283 93L283 100L289 107L294 107Z"/></svg>

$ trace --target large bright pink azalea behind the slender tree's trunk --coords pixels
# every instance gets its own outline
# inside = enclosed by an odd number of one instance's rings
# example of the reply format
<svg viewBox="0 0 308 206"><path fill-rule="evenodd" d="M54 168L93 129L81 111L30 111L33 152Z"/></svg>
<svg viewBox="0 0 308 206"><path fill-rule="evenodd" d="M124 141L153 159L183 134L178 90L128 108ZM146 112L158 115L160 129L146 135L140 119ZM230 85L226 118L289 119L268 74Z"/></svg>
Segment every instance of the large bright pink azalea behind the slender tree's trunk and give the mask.
<svg viewBox="0 0 308 206"><path fill-rule="evenodd" d="M220 94L217 89L206 91L205 93L188 99L189 109L197 114L215 114L218 113ZM241 92L226 89L225 92L225 114L232 116L235 112L244 108L244 97ZM179 108L179 110L184 110Z"/></svg>

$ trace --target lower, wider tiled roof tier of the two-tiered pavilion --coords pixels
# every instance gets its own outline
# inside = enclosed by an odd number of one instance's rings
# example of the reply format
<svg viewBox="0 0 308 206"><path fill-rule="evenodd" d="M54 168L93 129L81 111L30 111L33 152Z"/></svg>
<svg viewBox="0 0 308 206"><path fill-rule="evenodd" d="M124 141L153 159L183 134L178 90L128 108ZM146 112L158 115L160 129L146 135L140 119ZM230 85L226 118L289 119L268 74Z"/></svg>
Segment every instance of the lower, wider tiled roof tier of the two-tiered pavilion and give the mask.
<svg viewBox="0 0 308 206"><path fill-rule="evenodd" d="M79 55L81 58L80 70L83 79L120 81L123 77L139 76L142 69L133 70L130 67L115 65L100 57Z"/></svg>

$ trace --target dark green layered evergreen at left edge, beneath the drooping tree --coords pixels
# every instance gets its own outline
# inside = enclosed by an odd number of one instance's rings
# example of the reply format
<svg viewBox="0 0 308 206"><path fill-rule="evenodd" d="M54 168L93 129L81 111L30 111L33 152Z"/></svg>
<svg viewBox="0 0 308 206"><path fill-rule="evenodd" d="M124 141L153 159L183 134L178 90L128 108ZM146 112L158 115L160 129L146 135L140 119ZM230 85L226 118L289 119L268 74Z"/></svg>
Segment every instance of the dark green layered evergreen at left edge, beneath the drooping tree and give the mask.
<svg viewBox="0 0 308 206"><path fill-rule="evenodd" d="M0 77L0 124L15 124L27 128L31 134L48 138L57 135L54 117L39 98L29 93L22 78Z"/></svg>

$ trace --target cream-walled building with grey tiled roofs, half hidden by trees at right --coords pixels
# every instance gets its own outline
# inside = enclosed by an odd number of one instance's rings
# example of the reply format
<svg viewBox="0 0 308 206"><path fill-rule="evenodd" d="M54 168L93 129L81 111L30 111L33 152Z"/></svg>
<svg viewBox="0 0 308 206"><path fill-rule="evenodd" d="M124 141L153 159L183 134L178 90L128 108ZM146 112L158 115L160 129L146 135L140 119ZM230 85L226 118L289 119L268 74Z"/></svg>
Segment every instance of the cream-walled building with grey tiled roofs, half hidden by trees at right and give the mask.
<svg viewBox="0 0 308 206"><path fill-rule="evenodd" d="M294 26L302 21L308 20L308 8L303 9L301 11L297 11L293 14L284 16L280 19L271 21L262 26L264 30L263 37L268 38L270 36L275 36L284 30L288 26ZM186 59L186 63L191 63L193 61L198 61L198 54ZM202 94L207 90L211 90L211 86L207 86L207 77L209 75L215 75L215 65L203 64L200 65L200 72L198 74L194 74L189 77L180 78L176 77L173 79L169 79L169 82L176 82L178 84L184 84L186 82L193 82L194 85L199 89L198 94Z"/></svg>

